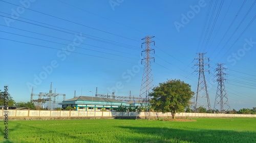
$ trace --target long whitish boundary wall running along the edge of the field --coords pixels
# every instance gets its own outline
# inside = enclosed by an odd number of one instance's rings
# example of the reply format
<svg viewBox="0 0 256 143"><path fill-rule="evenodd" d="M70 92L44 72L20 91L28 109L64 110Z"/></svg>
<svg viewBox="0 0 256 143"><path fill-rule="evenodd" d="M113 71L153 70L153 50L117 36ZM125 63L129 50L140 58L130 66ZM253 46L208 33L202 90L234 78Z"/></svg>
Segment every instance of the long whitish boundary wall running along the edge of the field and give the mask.
<svg viewBox="0 0 256 143"><path fill-rule="evenodd" d="M115 111L56 111L56 110L8 110L8 117L136 117L137 112L115 112ZM6 112L5 112L6 113ZM4 117L4 110L0 110L0 115ZM158 117L171 117L172 114L157 113ZM151 112L151 117L157 117L156 112ZM145 112L139 113L140 117L145 116ZM148 113L147 115L148 116ZM256 118L256 115L243 115L243 114L221 114L221 113L176 113L176 117L202 117L202 118L215 118L215 117L250 117Z"/></svg>

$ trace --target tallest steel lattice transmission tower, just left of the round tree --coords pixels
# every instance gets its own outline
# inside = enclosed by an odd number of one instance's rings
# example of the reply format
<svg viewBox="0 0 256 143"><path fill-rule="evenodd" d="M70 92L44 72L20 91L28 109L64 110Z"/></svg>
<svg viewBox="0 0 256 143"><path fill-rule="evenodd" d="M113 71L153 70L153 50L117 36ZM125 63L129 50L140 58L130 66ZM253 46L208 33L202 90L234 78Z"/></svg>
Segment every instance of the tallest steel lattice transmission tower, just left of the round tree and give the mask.
<svg viewBox="0 0 256 143"><path fill-rule="evenodd" d="M154 42L155 45L155 41L152 41L151 39L154 38L155 36L146 36L145 38L141 39L141 40L145 40L145 42L143 42L142 44L145 44L145 49L142 50L141 52L141 56L142 53L145 52L144 58L141 60L141 64L142 61L144 61L144 72L143 72L143 77L142 77L142 81L141 81L141 88L140 88L140 99L142 99L142 105L144 105L146 107L146 112L150 111L150 92L152 92L153 89L153 74L152 74L152 69L151 69L151 60L154 59L151 56L151 51L154 51L155 53L155 49L151 48L151 43ZM142 45L141 45L142 48ZM154 59L155 61L155 59Z"/></svg>

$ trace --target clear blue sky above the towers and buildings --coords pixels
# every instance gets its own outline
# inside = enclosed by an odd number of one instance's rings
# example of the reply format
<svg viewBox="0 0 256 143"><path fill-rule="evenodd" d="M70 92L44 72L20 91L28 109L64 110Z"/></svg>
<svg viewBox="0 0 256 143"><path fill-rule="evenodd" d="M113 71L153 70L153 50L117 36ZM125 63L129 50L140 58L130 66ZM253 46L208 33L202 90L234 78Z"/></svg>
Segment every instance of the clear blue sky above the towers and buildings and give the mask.
<svg viewBox="0 0 256 143"><path fill-rule="evenodd" d="M255 1L0 1L0 85L16 102L34 93L138 97L141 40L155 36L154 85L181 79L196 92L198 52L211 107L224 63L231 109L256 107ZM144 48L145 45L142 46ZM205 60L207 62L207 60ZM140 68L138 68L140 67ZM214 82L215 81L215 82ZM61 98L62 99L62 98ZM58 99L58 102L61 102Z"/></svg>

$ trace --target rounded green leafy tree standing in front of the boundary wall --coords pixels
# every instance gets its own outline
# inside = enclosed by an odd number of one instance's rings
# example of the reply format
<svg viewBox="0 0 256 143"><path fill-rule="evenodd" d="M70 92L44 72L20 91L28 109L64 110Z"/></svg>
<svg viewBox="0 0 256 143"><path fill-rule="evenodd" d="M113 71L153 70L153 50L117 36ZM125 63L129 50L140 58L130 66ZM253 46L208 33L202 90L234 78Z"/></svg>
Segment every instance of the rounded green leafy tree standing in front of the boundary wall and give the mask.
<svg viewBox="0 0 256 143"><path fill-rule="evenodd" d="M175 119L176 112L182 112L189 107L189 100L193 95L189 84L176 79L168 80L153 89L150 94L153 97L151 106L155 111L172 112L172 118Z"/></svg>

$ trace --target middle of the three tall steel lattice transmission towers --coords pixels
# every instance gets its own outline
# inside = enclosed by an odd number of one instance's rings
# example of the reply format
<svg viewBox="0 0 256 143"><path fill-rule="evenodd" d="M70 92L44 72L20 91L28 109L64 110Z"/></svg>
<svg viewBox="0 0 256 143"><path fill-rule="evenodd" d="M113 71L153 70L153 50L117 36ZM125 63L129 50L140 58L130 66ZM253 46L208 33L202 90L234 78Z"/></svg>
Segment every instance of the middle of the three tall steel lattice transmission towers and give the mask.
<svg viewBox="0 0 256 143"><path fill-rule="evenodd" d="M208 66L209 68L209 64L205 62L205 60L208 60L209 62L209 58L204 57L204 54L206 53L197 53L197 54L198 54L198 57L195 60L198 60L198 62L195 66L198 66L198 69L196 71L199 72L199 77L198 77L198 85L197 85L196 104L195 104L194 110L197 112L197 109L200 106L202 106L202 107L207 107L208 110L211 111L210 100L209 100L209 95L207 91L207 84L204 76L205 71L209 72L209 70L205 69L205 66Z"/></svg>

